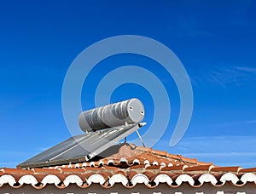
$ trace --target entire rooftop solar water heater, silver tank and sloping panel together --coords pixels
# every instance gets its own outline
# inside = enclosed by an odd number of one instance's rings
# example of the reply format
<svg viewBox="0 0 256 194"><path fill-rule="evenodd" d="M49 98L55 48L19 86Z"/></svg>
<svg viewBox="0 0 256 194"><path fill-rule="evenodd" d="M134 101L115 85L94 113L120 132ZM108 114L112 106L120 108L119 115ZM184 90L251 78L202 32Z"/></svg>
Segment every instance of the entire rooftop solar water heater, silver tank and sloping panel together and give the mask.
<svg viewBox="0 0 256 194"><path fill-rule="evenodd" d="M64 140L20 163L17 168L47 167L89 161L141 128L143 123L140 122L143 117L143 103L137 99L84 111L79 116L79 126L86 134Z"/></svg>

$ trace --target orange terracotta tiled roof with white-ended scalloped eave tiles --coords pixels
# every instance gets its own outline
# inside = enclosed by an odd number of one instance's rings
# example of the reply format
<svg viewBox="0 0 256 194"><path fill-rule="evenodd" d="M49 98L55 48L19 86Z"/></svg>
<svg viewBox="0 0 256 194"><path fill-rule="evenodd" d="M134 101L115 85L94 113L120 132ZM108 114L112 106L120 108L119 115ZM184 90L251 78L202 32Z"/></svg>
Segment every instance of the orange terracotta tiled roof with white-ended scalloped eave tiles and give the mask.
<svg viewBox="0 0 256 194"><path fill-rule="evenodd" d="M115 145L111 155L96 157L89 163L73 163L48 168L1 168L0 187L9 184L14 188L32 185L42 189L46 185L65 188L75 184L87 188L99 184L109 188L122 184L132 188L143 184L148 188L166 184L178 187L188 183L200 187L205 183L222 186L226 182L241 186L256 184L256 168L217 167L212 163L155 151L136 145Z"/></svg>

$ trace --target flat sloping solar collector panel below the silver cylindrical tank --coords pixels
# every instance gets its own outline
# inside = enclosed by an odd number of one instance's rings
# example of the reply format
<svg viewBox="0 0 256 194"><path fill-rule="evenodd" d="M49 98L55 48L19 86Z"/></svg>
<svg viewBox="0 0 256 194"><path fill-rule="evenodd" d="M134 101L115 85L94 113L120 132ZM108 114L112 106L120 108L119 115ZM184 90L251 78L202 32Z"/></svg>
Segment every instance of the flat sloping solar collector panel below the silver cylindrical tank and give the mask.
<svg viewBox="0 0 256 194"><path fill-rule="evenodd" d="M141 128L140 124L130 124L90 134L71 137L58 145L39 153L37 156L17 165L17 168L47 167L69 163L84 163L93 157L101 157L101 153L110 146L116 145L129 134Z"/></svg>

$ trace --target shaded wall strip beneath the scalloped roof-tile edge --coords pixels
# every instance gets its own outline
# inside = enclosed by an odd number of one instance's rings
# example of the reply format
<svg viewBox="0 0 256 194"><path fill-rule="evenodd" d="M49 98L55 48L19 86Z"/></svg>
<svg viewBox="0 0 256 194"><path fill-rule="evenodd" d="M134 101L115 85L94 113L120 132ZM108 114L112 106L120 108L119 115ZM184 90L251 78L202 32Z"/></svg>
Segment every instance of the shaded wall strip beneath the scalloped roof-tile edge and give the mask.
<svg viewBox="0 0 256 194"><path fill-rule="evenodd" d="M247 183L247 185L236 187L230 185L229 183L221 187L216 187L211 184L205 183L199 188L193 188L190 185L183 183L183 185L178 186L177 188L172 188L166 184L158 185L154 189L148 189L145 185L136 185L132 189L126 189L121 184L115 184L110 189L105 189L99 184L90 185L87 189L81 189L77 185L69 185L66 189L58 189L55 185L47 185L44 189L37 190L34 189L31 185L22 186L19 189L14 189L9 185L3 185L0 187L0 194L255 194L256 186L254 183Z"/></svg>

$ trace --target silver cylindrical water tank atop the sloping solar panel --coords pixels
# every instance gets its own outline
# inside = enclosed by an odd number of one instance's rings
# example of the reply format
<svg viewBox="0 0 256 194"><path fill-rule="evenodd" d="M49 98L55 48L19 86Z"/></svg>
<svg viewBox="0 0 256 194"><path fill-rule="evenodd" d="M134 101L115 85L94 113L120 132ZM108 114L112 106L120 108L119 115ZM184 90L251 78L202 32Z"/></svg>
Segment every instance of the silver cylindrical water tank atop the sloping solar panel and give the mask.
<svg viewBox="0 0 256 194"><path fill-rule="evenodd" d="M108 106L83 111L79 115L79 126L85 132L104 128L140 123L144 118L144 106L138 99L117 102Z"/></svg>

